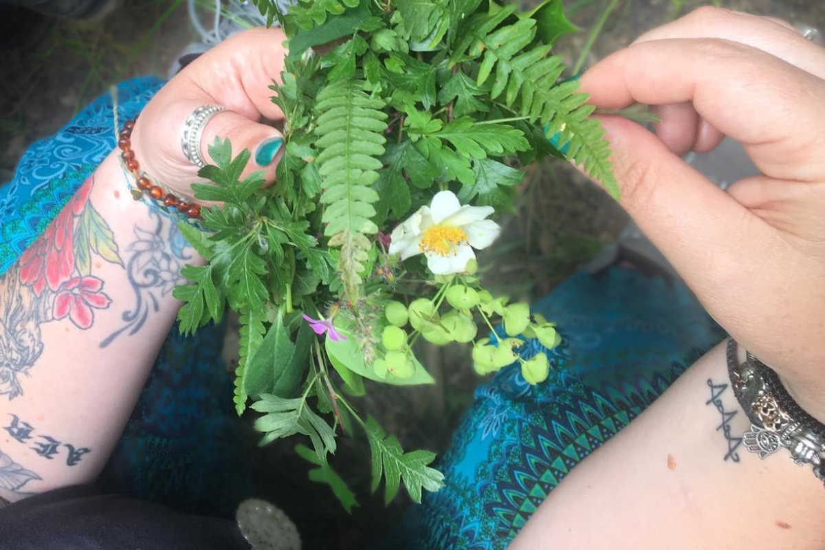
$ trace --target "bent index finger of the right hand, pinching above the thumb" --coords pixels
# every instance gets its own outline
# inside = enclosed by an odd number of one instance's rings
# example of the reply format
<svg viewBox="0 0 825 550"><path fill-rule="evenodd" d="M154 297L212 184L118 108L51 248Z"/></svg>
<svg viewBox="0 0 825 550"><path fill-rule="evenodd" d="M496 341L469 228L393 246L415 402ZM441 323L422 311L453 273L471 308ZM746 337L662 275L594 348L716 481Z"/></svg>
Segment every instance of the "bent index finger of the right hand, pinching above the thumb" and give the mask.
<svg viewBox="0 0 825 550"><path fill-rule="evenodd" d="M799 125L825 118L825 82L761 50L727 40L644 42L596 63L581 82L600 109L692 101L766 176L825 178L825 128Z"/></svg>

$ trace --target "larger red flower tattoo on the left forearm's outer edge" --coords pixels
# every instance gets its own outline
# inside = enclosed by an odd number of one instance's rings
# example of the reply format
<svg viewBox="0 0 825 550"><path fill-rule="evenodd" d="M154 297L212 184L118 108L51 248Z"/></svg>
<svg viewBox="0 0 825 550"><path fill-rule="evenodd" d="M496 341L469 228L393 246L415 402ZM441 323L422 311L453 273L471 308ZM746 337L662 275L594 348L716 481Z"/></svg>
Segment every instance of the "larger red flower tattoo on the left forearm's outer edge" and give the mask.
<svg viewBox="0 0 825 550"><path fill-rule="evenodd" d="M31 286L37 296L43 294L46 285L57 292L60 285L71 278L74 272L74 218L82 214L91 191L90 177L45 233L20 256L20 280Z"/></svg>

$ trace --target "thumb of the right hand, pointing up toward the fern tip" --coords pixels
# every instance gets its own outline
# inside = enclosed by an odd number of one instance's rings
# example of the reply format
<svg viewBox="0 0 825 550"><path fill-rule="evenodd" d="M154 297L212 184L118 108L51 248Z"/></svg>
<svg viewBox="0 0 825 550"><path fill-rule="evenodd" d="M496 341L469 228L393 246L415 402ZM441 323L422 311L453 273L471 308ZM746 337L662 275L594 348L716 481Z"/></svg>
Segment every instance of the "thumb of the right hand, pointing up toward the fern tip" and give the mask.
<svg viewBox="0 0 825 550"><path fill-rule="evenodd" d="M620 117L599 118L621 205L714 313L719 300L733 298L730 288L720 287L741 277L742 242L765 237L769 228L655 134Z"/></svg>

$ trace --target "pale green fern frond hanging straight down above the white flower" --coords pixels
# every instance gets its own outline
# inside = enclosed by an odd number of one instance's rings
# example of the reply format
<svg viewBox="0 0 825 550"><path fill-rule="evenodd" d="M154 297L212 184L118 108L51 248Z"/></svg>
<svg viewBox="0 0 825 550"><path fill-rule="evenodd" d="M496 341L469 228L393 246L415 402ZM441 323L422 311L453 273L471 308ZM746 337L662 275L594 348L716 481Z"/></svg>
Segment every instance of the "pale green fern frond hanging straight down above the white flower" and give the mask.
<svg viewBox="0 0 825 550"><path fill-rule="evenodd" d="M370 241L365 236L378 231L372 221L378 193L370 186L383 166L377 157L384 154L387 115L384 101L368 96L365 82L341 80L318 92L319 113L315 159L321 175L326 204L324 234L334 237L331 247L341 247L338 270L351 299L361 294L361 271Z"/></svg>

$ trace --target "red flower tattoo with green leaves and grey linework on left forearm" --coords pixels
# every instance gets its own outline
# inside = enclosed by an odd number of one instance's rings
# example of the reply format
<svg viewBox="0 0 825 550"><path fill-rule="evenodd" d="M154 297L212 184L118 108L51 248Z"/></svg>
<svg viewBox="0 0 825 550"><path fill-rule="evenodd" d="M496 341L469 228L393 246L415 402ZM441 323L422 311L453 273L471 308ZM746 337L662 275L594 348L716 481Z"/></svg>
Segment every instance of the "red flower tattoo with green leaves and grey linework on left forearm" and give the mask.
<svg viewBox="0 0 825 550"><path fill-rule="evenodd" d="M0 395L22 395L21 375L40 358L40 325L68 318L86 330L111 303L92 256L123 266L111 228L92 206L94 176L78 189L15 266L0 276Z"/></svg>

